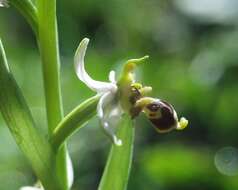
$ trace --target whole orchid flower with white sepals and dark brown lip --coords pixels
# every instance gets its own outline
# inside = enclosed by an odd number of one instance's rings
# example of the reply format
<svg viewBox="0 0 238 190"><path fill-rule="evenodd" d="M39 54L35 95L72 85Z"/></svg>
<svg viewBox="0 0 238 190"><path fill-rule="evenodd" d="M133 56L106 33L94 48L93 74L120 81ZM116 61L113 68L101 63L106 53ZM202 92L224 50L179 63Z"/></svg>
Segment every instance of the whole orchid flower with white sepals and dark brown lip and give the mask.
<svg viewBox="0 0 238 190"><path fill-rule="evenodd" d="M158 132L168 132L172 129L181 130L187 126L188 121L185 118L182 117L178 121L177 113L169 103L145 97L152 90L151 87L143 87L135 82L133 71L148 56L128 60L118 81L116 81L115 71L110 71L109 82L96 81L85 71L84 57L88 43L89 39L84 38L79 44L74 58L75 71L84 84L100 95L97 115L105 133L115 145L122 145L122 141L117 138L110 121L114 117L120 118L123 112L129 113L132 119L144 112ZM115 119L113 119L113 123L115 123Z"/></svg>

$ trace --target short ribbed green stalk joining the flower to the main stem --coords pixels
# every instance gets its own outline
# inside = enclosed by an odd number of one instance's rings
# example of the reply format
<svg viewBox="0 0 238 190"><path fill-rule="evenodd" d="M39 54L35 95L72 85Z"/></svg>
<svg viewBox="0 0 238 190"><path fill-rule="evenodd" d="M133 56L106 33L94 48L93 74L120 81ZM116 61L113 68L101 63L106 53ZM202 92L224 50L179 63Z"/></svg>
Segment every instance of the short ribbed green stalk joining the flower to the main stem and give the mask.
<svg viewBox="0 0 238 190"><path fill-rule="evenodd" d="M65 116L58 124L51 137L51 143L55 150L58 150L69 136L83 127L84 124L96 114L99 98L100 96L94 96L87 99Z"/></svg>

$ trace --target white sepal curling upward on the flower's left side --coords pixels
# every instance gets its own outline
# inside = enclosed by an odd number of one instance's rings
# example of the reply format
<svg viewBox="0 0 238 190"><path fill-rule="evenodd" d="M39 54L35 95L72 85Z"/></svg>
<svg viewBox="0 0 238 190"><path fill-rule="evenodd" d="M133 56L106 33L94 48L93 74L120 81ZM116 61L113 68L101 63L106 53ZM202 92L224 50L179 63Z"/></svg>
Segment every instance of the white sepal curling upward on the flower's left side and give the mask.
<svg viewBox="0 0 238 190"><path fill-rule="evenodd" d="M84 82L90 89L98 93L107 91L116 91L117 86L115 84L93 80L85 71L84 56L87 50L88 42L89 39L84 38L80 42L78 49L75 53L74 65L78 78L82 82Z"/></svg>

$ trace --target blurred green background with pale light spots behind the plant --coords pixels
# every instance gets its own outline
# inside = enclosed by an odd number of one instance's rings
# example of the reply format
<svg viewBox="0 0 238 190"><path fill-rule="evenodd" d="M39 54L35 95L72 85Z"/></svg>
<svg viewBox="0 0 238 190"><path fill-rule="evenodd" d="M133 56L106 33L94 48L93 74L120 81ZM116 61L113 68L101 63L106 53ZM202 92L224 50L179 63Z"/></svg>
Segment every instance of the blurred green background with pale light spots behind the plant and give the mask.
<svg viewBox="0 0 238 190"><path fill-rule="evenodd" d="M58 25L65 114L94 94L73 69L74 51L89 37L86 67L93 78L108 80L109 71L120 71L125 60L149 54L138 81L153 86L154 97L169 101L189 120L182 132L158 134L143 115L136 119L129 190L238 189L238 1L58 0ZM36 40L12 7L0 9L0 36L35 120L46 132ZM68 144L72 189L96 189L110 148L98 119ZM0 117L0 189L34 182Z"/></svg>

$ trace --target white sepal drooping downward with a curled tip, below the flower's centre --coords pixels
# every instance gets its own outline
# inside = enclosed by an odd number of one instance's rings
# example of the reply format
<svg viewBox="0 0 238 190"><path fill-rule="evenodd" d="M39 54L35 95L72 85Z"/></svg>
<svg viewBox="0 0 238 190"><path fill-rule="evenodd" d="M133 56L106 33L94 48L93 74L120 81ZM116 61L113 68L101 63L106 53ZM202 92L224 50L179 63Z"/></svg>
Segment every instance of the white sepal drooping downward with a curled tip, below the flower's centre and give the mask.
<svg viewBox="0 0 238 190"><path fill-rule="evenodd" d="M98 102L97 113L101 120L101 124L105 134L113 141L115 145L121 146L122 142L120 139L117 138L113 128L109 126L108 120L110 118L106 116L106 113L104 111L107 106L112 104L112 101L114 100L114 98L115 98L115 94L112 92L107 92L103 94Z"/></svg>

